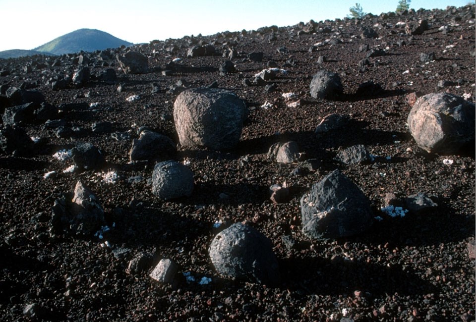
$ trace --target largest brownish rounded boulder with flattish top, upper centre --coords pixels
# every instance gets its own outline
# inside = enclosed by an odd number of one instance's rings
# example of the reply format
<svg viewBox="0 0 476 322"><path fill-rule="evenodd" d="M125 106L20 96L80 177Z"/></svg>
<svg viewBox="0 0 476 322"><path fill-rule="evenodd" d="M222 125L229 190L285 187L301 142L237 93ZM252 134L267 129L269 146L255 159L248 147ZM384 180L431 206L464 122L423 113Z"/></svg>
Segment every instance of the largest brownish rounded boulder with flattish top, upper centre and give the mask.
<svg viewBox="0 0 476 322"><path fill-rule="evenodd" d="M174 103L175 127L186 148L232 148L239 141L246 115L244 102L223 89L185 90Z"/></svg>

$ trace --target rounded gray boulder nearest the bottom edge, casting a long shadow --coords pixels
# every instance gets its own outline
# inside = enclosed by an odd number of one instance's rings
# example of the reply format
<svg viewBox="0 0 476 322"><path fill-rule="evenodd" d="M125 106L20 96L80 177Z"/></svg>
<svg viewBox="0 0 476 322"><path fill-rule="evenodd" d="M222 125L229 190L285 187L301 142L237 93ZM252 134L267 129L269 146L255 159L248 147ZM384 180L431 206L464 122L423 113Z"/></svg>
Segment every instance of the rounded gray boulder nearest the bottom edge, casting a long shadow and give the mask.
<svg viewBox="0 0 476 322"><path fill-rule="evenodd" d="M213 266L224 277L269 285L280 281L271 241L240 222L215 236L209 255Z"/></svg>

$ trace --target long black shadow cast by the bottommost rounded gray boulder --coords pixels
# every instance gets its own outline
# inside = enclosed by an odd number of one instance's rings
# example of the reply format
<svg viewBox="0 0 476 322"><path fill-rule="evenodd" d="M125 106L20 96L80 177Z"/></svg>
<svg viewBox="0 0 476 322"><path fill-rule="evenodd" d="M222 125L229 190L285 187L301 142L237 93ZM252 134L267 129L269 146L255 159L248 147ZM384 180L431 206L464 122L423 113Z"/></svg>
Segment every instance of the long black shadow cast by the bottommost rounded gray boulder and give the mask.
<svg viewBox="0 0 476 322"><path fill-rule="evenodd" d="M289 258L281 260L280 272L284 289L308 295L381 296L398 293L416 295L436 292L436 287L422 280L411 268L387 267L342 257L333 260Z"/></svg>

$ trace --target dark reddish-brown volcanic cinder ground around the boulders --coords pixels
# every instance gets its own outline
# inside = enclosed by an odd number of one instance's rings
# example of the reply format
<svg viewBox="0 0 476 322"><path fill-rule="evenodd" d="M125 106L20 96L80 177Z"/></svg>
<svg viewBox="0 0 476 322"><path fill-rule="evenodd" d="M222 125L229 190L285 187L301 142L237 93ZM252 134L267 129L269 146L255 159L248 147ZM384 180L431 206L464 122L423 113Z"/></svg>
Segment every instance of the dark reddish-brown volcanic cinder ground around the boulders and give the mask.
<svg viewBox="0 0 476 322"><path fill-rule="evenodd" d="M419 19L429 23L423 34L406 34L405 24L398 24ZM362 26L373 28L379 37L361 39ZM199 42L213 45L219 55L187 57L188 48ZM382 49L384 55L369 57L369 64L361 67L359 61L369 53L359 51L364 44ZM286 50L280 53L282 47ZM237 51L232 61L238 71L222 76L219 67L227 59L222 53L229 48ZM1 321L475 320L475 259L468 251L475 239L474 149L458 155L428 154L416 146L406 126L409 93L468 94L474 102L474 5L137 45L133 50L149 57L149 72L138 75L118 70L115 56L127 50L111 50L111 58L84 53L91 74L114 68L116 82L93 77L82 86L56 91L49 79L71 74L79 67L72 58L79 54L0 60L3 89L40 91L60 109L58 118L87 130L82 136L58 138L44 122L22 124L29 136L40 138L34 152L0 157ZM263 52L264 59L251 61L252 52ZM421 53L431 52L435 60L420 61ZM319 64L321 55L327 61ZM177 65L187 68L164 75L176 57L182 58ZM56 59L60 66L52 66ZM269 60L287 71L269 81L276 85L274 92L242 83L267 68ZM31 71L25 71L27 65ZM320 68L341 76L344 95L335 101L309 94L312 75ZM230 151L179 147L176 160L189 162L195 189L189 198L160 202L148 183L153 164L129 164L128 152L141 126L179 144L171 117L179 80L189 88L216 81L245 100L250 113L240 143ZM357 95L359 84L370 80L384 91ZM441 80L457 84L437 87ZM299 106L286 105L282 94L289 92L300 99ZM132 95L140 99L127 102ZM261 107L266 101L273 107ZM3 110L8 101L1 102ZM316 136L314 129L329 113L348 114L351 123ZM93 133L96 121L111 122L112 130ZM130 137L118 141L112 137L118 132ZM302 162L278 164L266 158L273 143L289 140L297 142ZM78 142L101 150L107 160L103 174L116 171L116 183L105 182L97 170L62 172L72 162L53 155ZM356 144L380 158L357 165L333 161L340 149ZM322 161L319 170L305 169L305 160L312 158ZM454 162L444 164L444 159ZM301 173L292 174L297 167ZM310 240L301 232L299 199L335 168L360 187L375 216L383 220L355 237ZM48 171L57 175L44 179ZM55 199L71 193L79 179L105 210L111 229L103 239L50 233ZM285 181L291 185L291 200L273 204L269 186ZM438 207L423 215L390 217L380 207L391 192L424 192ZM220 227L214 226L217 221ZM213 268L208 256L212 238L239 221L271 239L282 279L277 287L224 279ZM291 236L295 244L286 244L283 236ZM139 253L150 257L146 269L128 272L129 261ZM149 277L163 258L179 265L172 284ZM187 281L186 272L195 281ZM201 285L204 276L211 282Z"/></svg>

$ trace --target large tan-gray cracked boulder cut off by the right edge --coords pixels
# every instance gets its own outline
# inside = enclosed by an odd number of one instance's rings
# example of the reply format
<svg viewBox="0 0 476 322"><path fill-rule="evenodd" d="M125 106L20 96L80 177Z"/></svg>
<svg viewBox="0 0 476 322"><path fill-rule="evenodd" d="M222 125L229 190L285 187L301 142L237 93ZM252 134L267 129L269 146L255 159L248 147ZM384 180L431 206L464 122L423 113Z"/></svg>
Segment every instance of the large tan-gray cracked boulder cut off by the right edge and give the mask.
<svg viewBox="0 0 476 322"><path fill-rule="evenodd" d="M407 119L416 144L430 153L455 153L475 140L475 104L448 93L424 95Z"/></svg>

